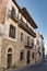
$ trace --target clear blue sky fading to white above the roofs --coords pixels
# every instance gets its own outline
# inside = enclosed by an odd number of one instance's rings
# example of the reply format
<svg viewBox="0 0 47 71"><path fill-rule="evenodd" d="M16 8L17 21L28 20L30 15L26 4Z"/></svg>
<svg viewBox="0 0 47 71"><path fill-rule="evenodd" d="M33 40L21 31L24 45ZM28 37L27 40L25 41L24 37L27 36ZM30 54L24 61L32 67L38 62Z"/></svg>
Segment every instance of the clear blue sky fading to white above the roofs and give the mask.
<svg viewBox="0 0 47 71"><path fill-rule="evenodd" d="M21 8L25 7L38 25L37 31L44 36L47 50L47 0L16 0Z"/></svg>

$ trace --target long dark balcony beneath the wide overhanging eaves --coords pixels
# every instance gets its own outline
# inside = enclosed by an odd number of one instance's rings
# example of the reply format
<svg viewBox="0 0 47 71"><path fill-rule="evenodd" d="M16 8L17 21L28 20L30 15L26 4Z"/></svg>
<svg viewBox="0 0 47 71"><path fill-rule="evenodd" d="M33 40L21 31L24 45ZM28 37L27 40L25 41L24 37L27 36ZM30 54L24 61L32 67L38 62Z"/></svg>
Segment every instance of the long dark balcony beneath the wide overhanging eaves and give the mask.
<svg viewBox="0 0 47 71"><path fill-rule="evenodd" d="M23 28L25 32L27 32L30 35L32 35L33 37L36 37L34 31L30 28L28 25L24 23L22 20L19 21L19 26Z"/></svg>

